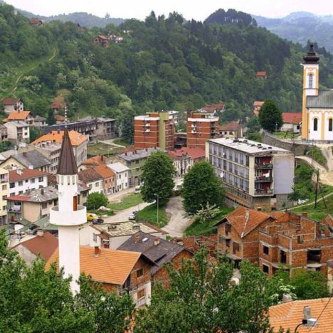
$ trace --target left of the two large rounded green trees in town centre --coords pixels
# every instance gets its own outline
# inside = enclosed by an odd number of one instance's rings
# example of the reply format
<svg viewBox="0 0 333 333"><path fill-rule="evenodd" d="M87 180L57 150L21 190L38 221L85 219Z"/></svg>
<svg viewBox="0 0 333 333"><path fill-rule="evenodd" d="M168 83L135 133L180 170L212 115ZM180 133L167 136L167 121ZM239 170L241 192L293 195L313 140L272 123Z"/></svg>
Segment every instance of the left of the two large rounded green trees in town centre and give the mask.
<svg viewBox="0 0 333 333"><path fill-rule="evenodd" d="M169 199L174 189L174 163L161 150L153 152L142 166L141 194L144 201Z"/></svg>

